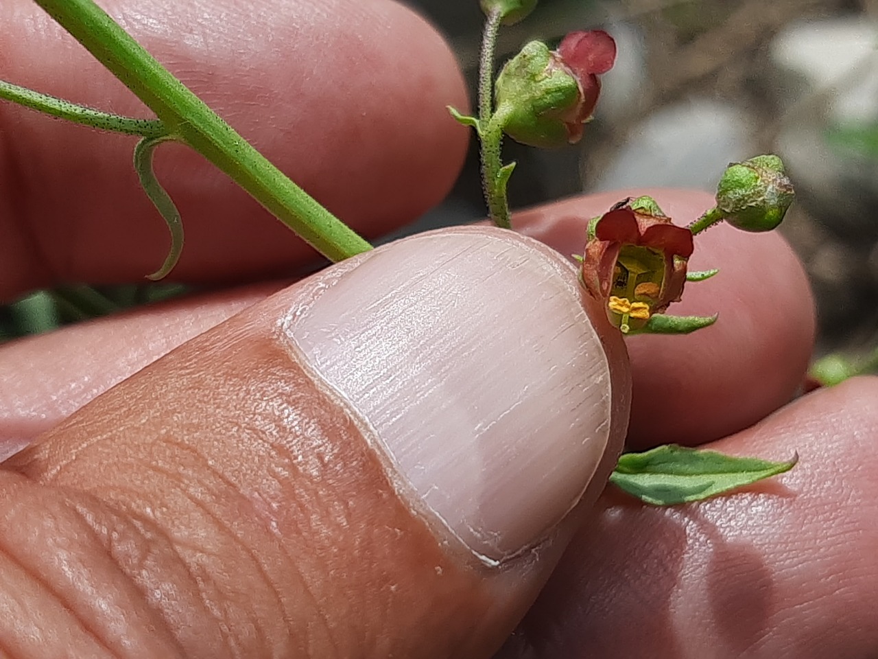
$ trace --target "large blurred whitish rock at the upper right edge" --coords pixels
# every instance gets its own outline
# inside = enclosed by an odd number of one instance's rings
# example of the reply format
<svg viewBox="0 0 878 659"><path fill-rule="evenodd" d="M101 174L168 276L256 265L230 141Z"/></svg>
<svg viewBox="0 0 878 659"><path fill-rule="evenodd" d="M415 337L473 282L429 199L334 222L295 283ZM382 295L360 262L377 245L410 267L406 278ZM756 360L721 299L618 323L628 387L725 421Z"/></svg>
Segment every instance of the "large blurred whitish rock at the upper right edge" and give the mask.
<svg viewBox="0 0 878 659"><path fill-rule="evenodd" d="M832 140L838 127L878 120L878 26L865 18L789 25L771 44L777 148L810 214L846 243L878 241L878 156Z"/></svg>

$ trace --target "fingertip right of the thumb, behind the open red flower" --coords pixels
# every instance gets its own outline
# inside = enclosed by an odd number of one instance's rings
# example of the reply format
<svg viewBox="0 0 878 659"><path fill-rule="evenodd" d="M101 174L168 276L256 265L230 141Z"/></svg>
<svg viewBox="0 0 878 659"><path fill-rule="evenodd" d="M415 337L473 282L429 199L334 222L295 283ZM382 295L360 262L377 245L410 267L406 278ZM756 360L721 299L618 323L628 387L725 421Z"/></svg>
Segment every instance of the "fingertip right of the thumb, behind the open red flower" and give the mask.
<svg viewBox="0 0 878 659"><path fill-rule="evenodd" d="M589 218L627 196L650 194L678 224L713 205L704 192L610 192L542 206L515 218L522 233L562 254L580 254ZM790 401L802 386L814 342L814 302L795 253L776 233L720 225L695 238L689 283L668 313L713 315L687 336L630 337L633 398L628 443L698 444L742 430Z"/></svg>

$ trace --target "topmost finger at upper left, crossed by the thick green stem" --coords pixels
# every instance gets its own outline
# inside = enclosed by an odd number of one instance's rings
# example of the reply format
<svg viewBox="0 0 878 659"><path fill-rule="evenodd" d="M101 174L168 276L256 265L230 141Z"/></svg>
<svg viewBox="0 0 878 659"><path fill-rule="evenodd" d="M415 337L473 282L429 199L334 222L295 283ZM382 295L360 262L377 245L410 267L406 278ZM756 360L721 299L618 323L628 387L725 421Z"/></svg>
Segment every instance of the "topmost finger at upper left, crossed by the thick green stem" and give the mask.
<svg viewBox="0 0 878 659"><path fill-rule="evenodd" d="M467 131L453 55L390 0L155 0L104 8L321 203L367 235L442 199ZM0 75L61 98L149 116L29 0L0 6ZM0 300L61 280L137 280L168 230L137 183L133 138L0 104ZM189 281L288 276L308 248L190 150L162 147L157 175L184 218L174 272Z"/></svg>

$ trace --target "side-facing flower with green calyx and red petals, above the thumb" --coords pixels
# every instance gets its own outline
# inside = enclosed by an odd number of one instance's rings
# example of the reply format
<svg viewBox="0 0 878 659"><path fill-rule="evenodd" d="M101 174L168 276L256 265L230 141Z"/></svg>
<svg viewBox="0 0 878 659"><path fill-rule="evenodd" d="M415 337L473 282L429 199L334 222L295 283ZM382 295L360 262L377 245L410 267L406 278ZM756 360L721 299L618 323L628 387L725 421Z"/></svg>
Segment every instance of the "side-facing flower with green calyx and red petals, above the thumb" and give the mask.
<svg viewBox="0 0 878 659"><path fill-rule="evenodd" d="M602 30L570 33L557 51L531 41L500 71L497 115L503 132L532 147L576 143L613 67L615 41Z"/></svg>

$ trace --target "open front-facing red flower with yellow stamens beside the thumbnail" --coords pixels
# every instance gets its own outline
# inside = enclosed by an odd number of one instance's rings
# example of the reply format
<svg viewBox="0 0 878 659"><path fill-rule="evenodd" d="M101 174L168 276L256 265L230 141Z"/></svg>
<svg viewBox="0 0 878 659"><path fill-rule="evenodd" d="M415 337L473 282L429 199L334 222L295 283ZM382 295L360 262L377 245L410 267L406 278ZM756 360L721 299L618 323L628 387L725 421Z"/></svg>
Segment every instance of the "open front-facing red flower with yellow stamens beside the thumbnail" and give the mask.
<svg viewBox="0 0 878 659"><path fill-rule="evenodd" d="M653 199L624 199L590 223L582 283L606 301L615 327L637 331L680 301L693 249L692 232L675 226Z"/></svg>

